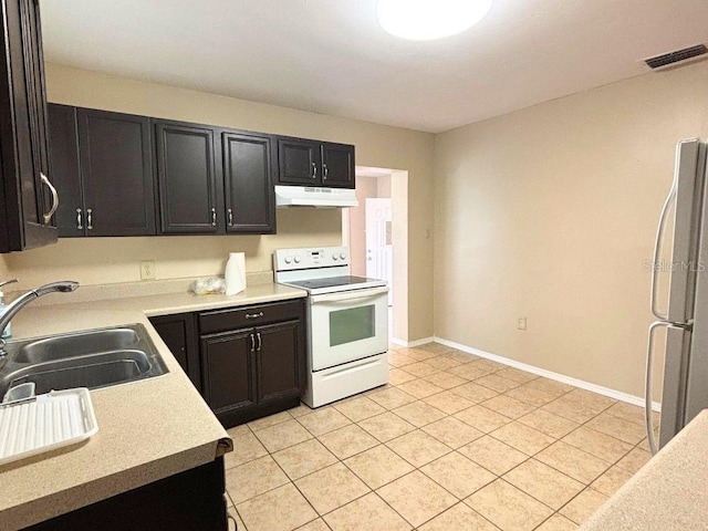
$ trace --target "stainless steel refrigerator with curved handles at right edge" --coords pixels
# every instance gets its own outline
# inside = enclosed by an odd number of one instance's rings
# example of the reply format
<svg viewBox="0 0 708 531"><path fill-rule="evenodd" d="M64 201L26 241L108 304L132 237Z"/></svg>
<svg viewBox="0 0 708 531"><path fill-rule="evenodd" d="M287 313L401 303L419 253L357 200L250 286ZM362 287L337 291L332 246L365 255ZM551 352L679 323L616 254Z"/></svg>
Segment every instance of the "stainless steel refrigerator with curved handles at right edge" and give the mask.
<svg viewBox="0 0 708 531"><path fill-rule="evenodd" d="M657 321L649 327L646 406L647 431L654 452L657 444L653 440L648 419L658 329L666 329L658 448L708 407L706 179L706 143L698 139L679 142L673 186L659 217L652 268L652 312Z"/></svg>

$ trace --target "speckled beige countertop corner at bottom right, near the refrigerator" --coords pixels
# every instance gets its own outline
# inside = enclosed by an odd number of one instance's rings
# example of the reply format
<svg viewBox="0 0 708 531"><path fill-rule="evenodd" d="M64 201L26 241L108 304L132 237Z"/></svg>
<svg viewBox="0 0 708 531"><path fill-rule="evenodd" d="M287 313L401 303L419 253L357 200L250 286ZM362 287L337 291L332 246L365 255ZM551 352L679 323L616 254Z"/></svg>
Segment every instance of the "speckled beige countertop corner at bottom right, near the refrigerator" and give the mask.
<svg viewBox="0 0 708 531"><path fill-rule="evenodd" d="M581 531L708 530L708 409L704 409Z"/></svg>

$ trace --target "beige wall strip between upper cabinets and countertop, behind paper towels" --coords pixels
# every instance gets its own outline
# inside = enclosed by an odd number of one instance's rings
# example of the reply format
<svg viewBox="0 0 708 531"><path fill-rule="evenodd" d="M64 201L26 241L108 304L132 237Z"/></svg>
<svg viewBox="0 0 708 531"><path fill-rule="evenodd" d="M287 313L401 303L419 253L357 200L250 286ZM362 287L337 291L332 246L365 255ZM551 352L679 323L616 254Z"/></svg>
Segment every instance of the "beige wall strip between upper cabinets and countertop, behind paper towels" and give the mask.
<svg viewBox="0 0 708 531"><path fill-rule="evenodd" d="M277 236L61 239L11 253L6 263L22 280L21 289L60 279L88 285L139 281L139 260L154 260L158 279L180 279L223 274L229 252L244 252L248 272L256 272L273 269L278 248L341 244L337 210L278 209L277 216Z"/></svg>

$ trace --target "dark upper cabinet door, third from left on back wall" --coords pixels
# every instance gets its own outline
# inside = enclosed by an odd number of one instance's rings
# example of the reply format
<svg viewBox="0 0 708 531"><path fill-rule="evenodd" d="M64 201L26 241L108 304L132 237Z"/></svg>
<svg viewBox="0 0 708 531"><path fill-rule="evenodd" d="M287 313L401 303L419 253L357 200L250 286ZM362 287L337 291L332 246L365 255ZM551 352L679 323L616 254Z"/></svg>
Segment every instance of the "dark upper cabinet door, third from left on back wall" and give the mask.
<svg viewBox="0 0 708 531"><path fill-rule="evenodd" d="M214 129L157 122L160 232L218 233Z"/></svg>

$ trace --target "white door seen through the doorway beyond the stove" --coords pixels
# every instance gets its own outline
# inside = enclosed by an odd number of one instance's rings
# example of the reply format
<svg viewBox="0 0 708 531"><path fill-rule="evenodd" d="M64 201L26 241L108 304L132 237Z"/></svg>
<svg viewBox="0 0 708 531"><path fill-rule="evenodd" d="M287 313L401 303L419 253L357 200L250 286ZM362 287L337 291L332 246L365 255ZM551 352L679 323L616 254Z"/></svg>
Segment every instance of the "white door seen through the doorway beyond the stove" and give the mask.
<svg viewBox="0 0 708 531"><path fill-rule="evenodd" d="M366 277L388 283L389 306L393 303L391 210L391 198L366 199Z"/></svg>

